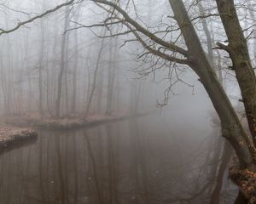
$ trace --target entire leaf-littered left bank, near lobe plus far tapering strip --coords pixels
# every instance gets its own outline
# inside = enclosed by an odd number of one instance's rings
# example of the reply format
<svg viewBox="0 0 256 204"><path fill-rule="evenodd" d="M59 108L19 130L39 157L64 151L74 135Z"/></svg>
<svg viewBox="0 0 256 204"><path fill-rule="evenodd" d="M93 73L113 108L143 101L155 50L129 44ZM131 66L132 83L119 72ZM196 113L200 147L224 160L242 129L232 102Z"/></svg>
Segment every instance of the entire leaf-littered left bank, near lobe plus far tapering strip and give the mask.
<svg viewBox="0 0 256 204"><path fill-rule="evenodd" d="M136 116L146 116L138 114ZM38 130L67 131L84 127L95 127L108 122L119 122L134 117L131 114L86 116L53 116L23 115L9 116L0 122L0 154L38 139Z"/></svg>

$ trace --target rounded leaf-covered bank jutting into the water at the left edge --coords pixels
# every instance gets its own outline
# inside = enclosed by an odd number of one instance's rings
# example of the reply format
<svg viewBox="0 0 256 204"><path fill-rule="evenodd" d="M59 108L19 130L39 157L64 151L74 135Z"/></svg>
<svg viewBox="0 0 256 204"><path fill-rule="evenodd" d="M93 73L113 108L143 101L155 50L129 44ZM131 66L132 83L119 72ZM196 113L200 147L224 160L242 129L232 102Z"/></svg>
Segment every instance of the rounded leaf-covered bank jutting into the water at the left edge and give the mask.
<svg viewBox="0 0 256 204"><path fill-rule="evenodd" d="M38 133L32 128L0 127L0 153L31 144L37 138Z"/></svg>

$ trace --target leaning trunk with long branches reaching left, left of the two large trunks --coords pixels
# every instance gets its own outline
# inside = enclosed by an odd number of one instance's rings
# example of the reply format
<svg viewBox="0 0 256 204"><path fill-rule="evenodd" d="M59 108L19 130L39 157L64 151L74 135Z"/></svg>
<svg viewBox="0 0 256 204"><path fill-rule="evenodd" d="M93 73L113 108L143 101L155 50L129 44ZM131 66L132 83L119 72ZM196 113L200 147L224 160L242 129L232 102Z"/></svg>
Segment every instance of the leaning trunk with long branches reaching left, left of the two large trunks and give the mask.
<svg viewBox="0 0 256 204"><path fill-rule="evenodd" d="M242 167L252 167L255 149L251 139L245 133L241 122L236 116L230 100L224 92L218 78L207 60L201 47L201 42L192 26L182 0L169 0L172 10L181 28L185 43L188 48L191 68L200 77L200 81L212 100L212 105L218 113L222 125L224 138L230 141L239 158Z"/></svg>

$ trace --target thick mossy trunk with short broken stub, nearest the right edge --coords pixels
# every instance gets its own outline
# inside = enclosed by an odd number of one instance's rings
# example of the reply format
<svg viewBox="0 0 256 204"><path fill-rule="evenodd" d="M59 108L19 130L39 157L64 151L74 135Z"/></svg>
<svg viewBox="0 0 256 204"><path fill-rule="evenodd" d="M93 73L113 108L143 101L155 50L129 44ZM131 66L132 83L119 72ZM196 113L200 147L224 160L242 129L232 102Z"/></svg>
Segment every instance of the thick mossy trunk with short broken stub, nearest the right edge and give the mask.
<svg viewBox="0 0 256 204"><path fill-rule="evenodd" d="M237 82L241 89L253 143L256 144L256 77L247 48L247 40L241 30L234 0L216 0L216 3L229 41L227 46L221 43L218 43L218 46L230 54L232 68L236 71Z"/></svg>

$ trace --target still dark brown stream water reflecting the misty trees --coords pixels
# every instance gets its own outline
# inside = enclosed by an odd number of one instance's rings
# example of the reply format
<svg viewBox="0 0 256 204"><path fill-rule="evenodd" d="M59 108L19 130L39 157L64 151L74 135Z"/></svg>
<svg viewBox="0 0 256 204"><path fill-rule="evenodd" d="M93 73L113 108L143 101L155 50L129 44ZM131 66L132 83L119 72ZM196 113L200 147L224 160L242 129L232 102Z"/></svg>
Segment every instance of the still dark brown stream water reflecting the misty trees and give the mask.
<svg viewBox="0 0 256 204"><path fill-rule="evenodd" d="M207 138L189 136L152 117L41 132L0 156L0 204L207 203Z"/></svg>

